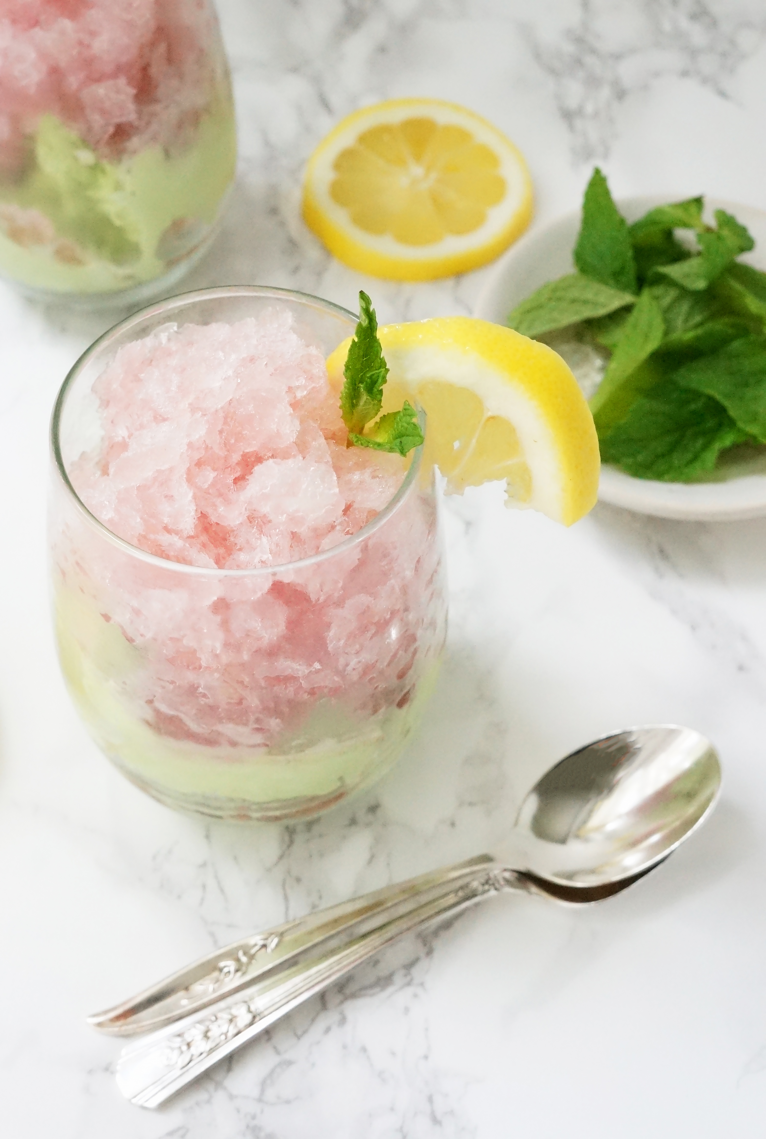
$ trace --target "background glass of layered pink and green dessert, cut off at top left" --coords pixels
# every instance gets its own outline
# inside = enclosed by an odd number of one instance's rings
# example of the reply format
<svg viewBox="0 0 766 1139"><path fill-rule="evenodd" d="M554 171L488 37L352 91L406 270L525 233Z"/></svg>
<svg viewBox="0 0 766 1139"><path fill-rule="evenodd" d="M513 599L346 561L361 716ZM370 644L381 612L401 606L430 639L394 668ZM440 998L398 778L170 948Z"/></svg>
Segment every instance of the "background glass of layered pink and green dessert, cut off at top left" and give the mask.
<svg viewBox="0 0 766 1139"><path fill-rule="evenodd" d="M0 276L89 305L168 292L234 179L212 0L10 0L0 44Z"/></svg>

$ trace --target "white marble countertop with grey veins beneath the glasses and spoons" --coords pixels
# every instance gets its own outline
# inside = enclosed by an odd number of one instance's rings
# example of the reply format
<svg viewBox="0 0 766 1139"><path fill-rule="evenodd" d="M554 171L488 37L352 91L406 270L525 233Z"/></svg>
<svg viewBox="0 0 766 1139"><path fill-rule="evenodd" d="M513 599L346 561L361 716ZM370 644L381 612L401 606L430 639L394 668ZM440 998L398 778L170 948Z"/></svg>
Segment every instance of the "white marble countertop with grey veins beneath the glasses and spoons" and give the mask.
<svg viewBox="0 0 766 1139"><path fill-rule="evenodd" d="M301 167L342 115L464 103L528 156L536 224L594 162L616 195L766 207L760 0L220 0L241 172L190 286L293 286L378 316L470 312L486 272L392 285L334 262ZM596 508L571 531L446 503L451 631L423 730L309 825L171 813L98 753L49 629L55 393L108 318L0 288L0 1128L9 1139L760 1139L766 1117L766 519ZM83 1016L217 944L491 849L536 773L630 722L710 736L725 793L645 883L586 911L503 896L329 991L165 1108Z"/></svg>

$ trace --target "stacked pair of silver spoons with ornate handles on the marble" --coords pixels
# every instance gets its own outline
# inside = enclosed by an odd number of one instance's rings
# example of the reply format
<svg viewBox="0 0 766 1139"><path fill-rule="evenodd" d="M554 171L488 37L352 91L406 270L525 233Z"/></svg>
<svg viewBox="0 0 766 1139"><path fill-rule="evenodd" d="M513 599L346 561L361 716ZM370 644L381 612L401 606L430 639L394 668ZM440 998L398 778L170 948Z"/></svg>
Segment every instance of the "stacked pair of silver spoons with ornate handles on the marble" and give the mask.
<svg viewBox="0 0 766 1139"><path fill-rule="evenodd" d="M505 888L574 903L618 893L700 825L719 786L718 757L696 731L655 726L608 736L538 780L495 857L245 939L89 1022L117 1034L164 1026L127 1048L117 1070L128 1098L156 1107L406 932Z"/></svg>

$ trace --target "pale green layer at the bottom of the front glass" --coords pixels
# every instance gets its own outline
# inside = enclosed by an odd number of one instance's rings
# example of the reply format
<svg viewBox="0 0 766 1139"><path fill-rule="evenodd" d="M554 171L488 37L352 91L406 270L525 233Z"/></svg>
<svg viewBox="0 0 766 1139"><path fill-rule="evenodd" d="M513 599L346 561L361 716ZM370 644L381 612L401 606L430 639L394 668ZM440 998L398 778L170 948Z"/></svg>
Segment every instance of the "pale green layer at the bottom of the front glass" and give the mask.
<svg viewBox="0 0 766 1139"><path fill-rule="evenodd" d="M311 814L373 782L401 753L439 667L432 658L404 708L364 721L318 702L300 723L302 748L209 747L160 735L131 707L142 653L82 595L59 587L56 624L64 677L101 749L155 797L233 818Z"/></svg>

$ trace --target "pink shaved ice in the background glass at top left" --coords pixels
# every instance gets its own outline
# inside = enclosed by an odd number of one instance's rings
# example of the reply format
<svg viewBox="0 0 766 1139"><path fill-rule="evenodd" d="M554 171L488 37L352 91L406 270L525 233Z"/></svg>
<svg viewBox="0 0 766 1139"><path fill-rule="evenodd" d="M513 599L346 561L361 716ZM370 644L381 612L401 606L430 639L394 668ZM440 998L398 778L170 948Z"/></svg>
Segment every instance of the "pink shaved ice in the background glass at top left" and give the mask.
<svg viewBox="0 0 766 1139"><path fill-rule="evenodd" d="M178 147L210 101L207 0L2 0L0 170L55 115L99 156Z"/></svg>

